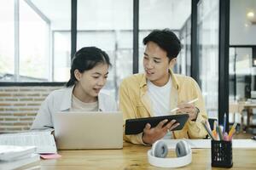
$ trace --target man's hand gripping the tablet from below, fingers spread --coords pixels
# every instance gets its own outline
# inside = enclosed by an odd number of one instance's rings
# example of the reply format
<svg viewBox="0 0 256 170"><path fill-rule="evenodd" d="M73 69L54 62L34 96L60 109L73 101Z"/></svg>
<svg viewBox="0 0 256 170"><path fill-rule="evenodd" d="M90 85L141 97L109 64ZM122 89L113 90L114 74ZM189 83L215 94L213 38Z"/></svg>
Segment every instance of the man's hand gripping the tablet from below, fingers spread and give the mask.
<svg viewBox="0 0 256 170"><path fill-rule="evenodd" d="M149 123L143 129L143 142L145 144L153 144L156 140L162 139L167 132L171 131L173 128L177 127L179 123L175 123L176 120L168 122L167 119L158 123L156 127L151 127ZM166 124L166 126L164 126Z"/></svg>

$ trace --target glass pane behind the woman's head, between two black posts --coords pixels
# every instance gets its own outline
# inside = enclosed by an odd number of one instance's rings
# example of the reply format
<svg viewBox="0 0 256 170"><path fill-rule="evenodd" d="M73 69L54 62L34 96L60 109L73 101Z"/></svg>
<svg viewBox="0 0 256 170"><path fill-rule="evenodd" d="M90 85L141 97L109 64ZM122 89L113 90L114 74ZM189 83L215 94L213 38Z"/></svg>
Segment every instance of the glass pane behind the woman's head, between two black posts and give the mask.
<svg viewBox="0 0 256 170"><path fill-rule="evenodd" d="M119 83L132 74L132 0L79 0L77 49L102 48L113 67L103 91L118 98Z"/></svg>

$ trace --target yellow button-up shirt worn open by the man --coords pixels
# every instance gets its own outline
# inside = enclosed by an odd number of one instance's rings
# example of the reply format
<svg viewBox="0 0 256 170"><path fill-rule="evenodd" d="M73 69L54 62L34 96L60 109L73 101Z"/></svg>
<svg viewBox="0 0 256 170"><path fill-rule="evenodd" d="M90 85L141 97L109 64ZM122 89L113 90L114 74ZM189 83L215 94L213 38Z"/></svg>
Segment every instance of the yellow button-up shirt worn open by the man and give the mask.
<svg viewBox="0 0 256 170"><path fill-rule="evenodd" d="M188 102L195 98L198 98L195 102L195 106L200 110L196 121L188 121L182 130L173 131L173 137L175 139L204 138L207 135L207 131L201 122L207 120L207 112L202 99L201 89L191 77L173 74L171 70L170 74L172 78L171 111L177 107L177 104ZM127 77L121 82L119 87L119 109L124 114L124 139L133 144L143 144L143 133L137 135L125 135L125 120L154 116L147 91L148 85L145 74L135 74L131 77ZM177 113L175 112L173 114Z"/></svg>

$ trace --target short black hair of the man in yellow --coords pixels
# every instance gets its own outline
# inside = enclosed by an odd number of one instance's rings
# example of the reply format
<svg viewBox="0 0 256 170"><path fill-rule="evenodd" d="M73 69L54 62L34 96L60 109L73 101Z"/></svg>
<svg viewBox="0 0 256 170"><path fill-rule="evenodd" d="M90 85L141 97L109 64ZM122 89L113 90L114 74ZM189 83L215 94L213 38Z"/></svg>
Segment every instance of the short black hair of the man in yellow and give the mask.
<svg viewBox="0 0 256 170"><path fill-rule="evenodd" d="M143 44L155 42L160 48L166 51L167 57L171 60L177 57L181 50L181 43L177 36L168 28L164 30L154 30L144 37Z"/></svg>

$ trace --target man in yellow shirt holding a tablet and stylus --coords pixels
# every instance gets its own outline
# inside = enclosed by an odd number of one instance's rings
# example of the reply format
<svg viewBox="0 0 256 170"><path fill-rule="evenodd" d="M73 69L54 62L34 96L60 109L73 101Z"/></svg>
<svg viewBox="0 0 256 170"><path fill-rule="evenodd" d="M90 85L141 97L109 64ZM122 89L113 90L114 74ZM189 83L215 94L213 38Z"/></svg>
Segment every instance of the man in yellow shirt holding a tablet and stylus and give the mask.
<svg viewBox="0 0 256 170"><path fill-rule="evenodd" d="M172 131L178 126L175 121L163 126L167 120L156 127L147 124L143 133L124 135L133 144L153 144L169 134L172 139L204 138L207 135L201 122L207 120L207 113L201 90L191 77L172 72L180 52L181 43L170 30L154 30L143 39L146 49L143 58L143 74L127 77L119 88L119 108L126 119L148 116L166 116L188 113L189 121L182 130ZM190 100L198 100L187 104ZM176 112L172 109L178 107ZM125 124L124 124L125 128Z"/></svg>

